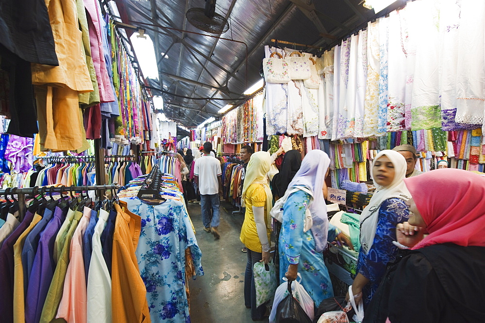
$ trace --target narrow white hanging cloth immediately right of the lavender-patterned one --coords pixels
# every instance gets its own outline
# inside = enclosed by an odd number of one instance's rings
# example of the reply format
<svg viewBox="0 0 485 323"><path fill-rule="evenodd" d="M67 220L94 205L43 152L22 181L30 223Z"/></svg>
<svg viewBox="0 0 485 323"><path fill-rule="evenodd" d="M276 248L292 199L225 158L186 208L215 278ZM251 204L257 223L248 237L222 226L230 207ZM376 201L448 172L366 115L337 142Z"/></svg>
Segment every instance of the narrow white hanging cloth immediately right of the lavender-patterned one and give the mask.
<svg viewBox="0 0 485 323"><path fill-rule="evenodd" d="M344 110L347 111L347 123L345 126L345 138L353 138L356 126L356 96L357 96L357 56L359 35L350 36L349 77L347 84L347 96Z"/></svg>

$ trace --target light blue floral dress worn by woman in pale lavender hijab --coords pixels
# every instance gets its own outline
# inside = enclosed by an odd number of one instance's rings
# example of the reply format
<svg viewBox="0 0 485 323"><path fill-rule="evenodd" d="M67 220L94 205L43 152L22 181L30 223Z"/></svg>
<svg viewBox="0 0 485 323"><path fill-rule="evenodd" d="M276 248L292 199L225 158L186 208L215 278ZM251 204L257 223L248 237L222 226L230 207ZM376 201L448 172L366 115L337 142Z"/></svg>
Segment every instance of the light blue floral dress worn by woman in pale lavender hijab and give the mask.
<svg viewBox="0 0 485 323"><path fill-rule="evenodd" d="M315 251L315 239L311 229L303 232L303 219L310 196L302 190L292 193L283 206L283 223L279 235L279 278L283 277L290 264L298 264L298 273L302 276L305 291L315 302L315 306L333 297L333 287L323 253ZM327 240L333 241L340 231L328 225Z"/></svg>

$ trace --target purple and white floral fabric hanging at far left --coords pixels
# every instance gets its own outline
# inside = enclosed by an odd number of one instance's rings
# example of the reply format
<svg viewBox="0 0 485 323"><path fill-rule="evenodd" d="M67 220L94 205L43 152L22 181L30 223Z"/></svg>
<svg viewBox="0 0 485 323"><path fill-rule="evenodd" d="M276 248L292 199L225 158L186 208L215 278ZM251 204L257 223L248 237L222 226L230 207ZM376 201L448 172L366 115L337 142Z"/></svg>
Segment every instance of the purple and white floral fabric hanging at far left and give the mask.
<svg viewBox="0 0 485 323"><path fill-rule="evenodd" d="M4 158L12 163L15 173L23 173L32 169L33 139L11 135L5 149Z"/></svg>

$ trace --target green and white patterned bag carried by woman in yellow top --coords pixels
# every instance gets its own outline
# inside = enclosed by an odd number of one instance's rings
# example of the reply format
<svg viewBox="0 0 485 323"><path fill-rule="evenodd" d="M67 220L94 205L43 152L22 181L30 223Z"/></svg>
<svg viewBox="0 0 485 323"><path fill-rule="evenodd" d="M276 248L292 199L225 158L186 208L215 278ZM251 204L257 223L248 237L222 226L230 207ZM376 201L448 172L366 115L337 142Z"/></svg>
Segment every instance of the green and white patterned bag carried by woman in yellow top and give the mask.
<svg viewBox="0 0 485 323"><path fill-rule="evenodd" d="M254 284L256 286L256 306L260 306L273 297L276 291L275 264L256 262L253 267Z"/></svg>

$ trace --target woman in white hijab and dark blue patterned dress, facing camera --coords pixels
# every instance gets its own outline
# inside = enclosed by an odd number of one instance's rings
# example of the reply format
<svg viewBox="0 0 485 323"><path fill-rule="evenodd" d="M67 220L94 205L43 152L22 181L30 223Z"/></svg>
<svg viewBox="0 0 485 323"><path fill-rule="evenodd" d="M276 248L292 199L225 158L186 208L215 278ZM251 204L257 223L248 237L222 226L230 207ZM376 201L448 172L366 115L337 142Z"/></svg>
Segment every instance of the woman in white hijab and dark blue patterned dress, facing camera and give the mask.
<svg viewBox="0 0 485 323"><path fill-rule="evenodd" d="M383 150L372 162L375 193L360 215L360 251L357 276L352 284L356 303L363 299L364 307L371 301L386 270L386 264L396 258L398 248L396 226L407 221L410 199L404 185L406 160L393 150ZM348 294L347 294L348 297Z"/></svg>

